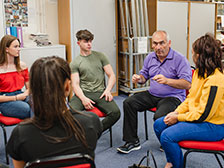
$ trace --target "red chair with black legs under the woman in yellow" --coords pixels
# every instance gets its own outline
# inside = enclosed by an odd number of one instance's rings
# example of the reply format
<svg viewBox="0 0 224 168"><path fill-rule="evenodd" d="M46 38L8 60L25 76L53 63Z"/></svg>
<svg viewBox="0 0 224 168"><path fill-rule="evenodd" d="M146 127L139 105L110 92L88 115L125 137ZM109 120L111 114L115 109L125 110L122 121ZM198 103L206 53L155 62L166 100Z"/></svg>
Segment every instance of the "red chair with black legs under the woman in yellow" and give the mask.
<svg viewBox="0 0 224 168"><path fill-rule="evenodd" d="M184 168L186 167L187 155L191 152L212 153L215 155L219 166L223 168L218 155L224 160L224 140L205 142L205 141L180 141L178 143L181 148L187 151L184 154Z"/></svg>

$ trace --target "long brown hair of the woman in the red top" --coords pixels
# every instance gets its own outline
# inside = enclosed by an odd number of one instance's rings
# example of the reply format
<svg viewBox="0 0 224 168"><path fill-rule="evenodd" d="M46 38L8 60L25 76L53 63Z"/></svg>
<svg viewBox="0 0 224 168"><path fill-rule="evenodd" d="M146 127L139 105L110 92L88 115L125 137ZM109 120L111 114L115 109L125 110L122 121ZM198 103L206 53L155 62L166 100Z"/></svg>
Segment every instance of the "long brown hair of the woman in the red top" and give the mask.
<svg viewBox="0 0 224 168"><path fill-rule="evenodd" d="M10 47L11 43L15 40L18 40L18 42L20 44L19 39L16 38L15 36L5 35L4 37L2 37L1 42L0 42L0 65L8 64L6 48ZM16 66L16 70L21 71L19 57L15 57L14 64Z"/></svg>

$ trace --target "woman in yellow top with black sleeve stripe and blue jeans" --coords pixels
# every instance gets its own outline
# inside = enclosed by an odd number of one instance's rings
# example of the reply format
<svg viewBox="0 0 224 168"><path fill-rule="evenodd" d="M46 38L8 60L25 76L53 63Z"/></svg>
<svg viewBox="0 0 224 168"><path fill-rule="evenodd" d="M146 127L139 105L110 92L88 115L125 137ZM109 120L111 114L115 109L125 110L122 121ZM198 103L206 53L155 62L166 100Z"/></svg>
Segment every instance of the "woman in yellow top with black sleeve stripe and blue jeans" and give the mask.
<svg viewBox="0 0 224 168"><path fill-rule="evenodd" d="M182 168L179 141L219 141L224 138L224 74L220 43L206 34L192 46L196 70L186 100L159 118L154 131L165 151L165 168Z"/></svg>

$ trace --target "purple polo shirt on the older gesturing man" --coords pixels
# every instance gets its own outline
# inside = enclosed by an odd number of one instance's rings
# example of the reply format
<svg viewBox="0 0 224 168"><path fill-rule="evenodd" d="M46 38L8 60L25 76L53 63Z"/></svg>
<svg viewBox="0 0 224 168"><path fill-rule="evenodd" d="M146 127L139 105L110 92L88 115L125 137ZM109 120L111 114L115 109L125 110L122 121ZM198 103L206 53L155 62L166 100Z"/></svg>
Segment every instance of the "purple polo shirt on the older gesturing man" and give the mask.
<svg viewBox="0 0 224 168"><path fill-rule="evenodd" d="M191 82L192 79L192 71L187 58L171 48L168 56L162 63L157 58L155 52L149 53L144 60L144 65L140 74L143 75L146 80L150 79L150 94L157 97L176 97L180 101L184 101L186 98L186 90L159 84L155 80L152 80L152 78L155 75L162 74L166 78L171 79L185 79L189 82Z"/></svg>

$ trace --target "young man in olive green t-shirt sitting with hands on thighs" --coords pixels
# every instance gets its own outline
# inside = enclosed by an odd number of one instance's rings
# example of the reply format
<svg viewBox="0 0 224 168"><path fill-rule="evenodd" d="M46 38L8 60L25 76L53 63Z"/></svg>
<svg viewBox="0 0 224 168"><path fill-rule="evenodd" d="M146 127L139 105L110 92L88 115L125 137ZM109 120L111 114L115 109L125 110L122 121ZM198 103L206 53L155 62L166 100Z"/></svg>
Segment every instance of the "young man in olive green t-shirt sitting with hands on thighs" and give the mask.
<svg viewBox="0 0 224 168"><path fill-rule="evenodd" d="M76 38L80 55L70 63L75 93L70 105L78 111L93 109L96 106L106 114L102 120L105 131L120 118L120 110L111 94L116 78L107 57L101 52L91 50L94 35L88 30L79 30ZM105 73L108 76L107 86Z"/></svg>

